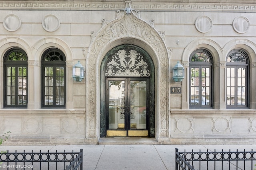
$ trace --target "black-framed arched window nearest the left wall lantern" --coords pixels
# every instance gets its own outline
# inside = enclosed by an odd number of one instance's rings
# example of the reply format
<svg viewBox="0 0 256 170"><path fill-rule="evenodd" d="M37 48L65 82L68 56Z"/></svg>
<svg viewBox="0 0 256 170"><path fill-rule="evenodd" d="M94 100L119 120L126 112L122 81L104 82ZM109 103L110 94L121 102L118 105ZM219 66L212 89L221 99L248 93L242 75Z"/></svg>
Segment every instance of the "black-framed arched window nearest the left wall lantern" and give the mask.
<svg viewBox="0 0 256 170"><path fill-rule="evenodd" d="M65 108L66 57L57 48L42 55L42 108Z"/></svg>

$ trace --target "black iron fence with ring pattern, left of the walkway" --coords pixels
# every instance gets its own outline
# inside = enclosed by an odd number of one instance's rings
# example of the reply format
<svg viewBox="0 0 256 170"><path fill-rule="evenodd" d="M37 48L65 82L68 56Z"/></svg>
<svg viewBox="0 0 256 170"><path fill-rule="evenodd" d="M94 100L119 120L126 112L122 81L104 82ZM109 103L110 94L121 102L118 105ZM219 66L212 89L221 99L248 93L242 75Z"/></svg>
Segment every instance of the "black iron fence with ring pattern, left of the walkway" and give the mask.
<svg viewBox="0 0 256 170"><path fill-rule="evenodd" d="M82 170L83 149L80 152L2 152L1 170Z"/></svg>

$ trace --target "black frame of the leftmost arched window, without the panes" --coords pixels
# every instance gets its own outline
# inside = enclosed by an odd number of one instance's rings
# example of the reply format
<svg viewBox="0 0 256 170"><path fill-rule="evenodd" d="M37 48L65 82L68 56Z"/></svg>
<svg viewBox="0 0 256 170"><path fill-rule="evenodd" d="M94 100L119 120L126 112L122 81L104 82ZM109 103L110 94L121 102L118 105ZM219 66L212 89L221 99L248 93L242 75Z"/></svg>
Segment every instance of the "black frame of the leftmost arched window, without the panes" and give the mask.
<svg viewBox="0 0 256 170"><path fill-rule="evenodd" d="M9 56L11 55L11 53L13 52L19 52L19 53L22 53L22 55L20 56L20 58L22 57L25 57L26 60L15 60L15 59L12 59L12 60L8 60ZM16 55L19 55L19 54L16 54ZM15 105L8 105L8 71L7 71L7 68L8 67L14 67L15 68ZM26 99L23 99L22 97L22 105L19 105L20 103L20 99L19 99L19 81L16 81L16 80L19 80L19 67L26 67ZM23 73L22 73L23 75ZM14 48L11 48L9 49L8 51L6 51L6 53L4 54L4 71L3 71L3 76L4 76L4 108L27 108L28 107L28 56L26 54L26 52L21 49L21 48L18 48L18 47L14 47ZM23 77L25 76L21 76L22 77L22 94L23 94ZM23 95L22 95L23 96ZM24 103L25 101L25 103Z"/></svg>

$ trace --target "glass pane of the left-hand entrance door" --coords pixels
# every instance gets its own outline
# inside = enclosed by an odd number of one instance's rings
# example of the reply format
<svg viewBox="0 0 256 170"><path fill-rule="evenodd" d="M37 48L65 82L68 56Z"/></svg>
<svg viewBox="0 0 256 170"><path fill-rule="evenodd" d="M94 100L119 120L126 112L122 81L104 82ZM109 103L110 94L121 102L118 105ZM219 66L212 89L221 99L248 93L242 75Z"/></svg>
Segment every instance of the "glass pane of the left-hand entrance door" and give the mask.
<svg viewBox="0 0 256 170"><path fill-rule="evenodd" d="M108 81L108 128L124 129L125 81Z"/></svg>

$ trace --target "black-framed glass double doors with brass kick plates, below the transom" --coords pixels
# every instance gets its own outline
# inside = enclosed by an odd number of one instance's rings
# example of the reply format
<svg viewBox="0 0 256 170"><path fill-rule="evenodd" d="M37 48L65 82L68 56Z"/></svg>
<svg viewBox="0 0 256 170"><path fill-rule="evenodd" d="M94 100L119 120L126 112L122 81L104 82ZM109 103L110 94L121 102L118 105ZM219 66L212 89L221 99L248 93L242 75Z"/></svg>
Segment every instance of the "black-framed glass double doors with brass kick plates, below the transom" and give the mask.
<svg viewBox="0 0 256 170"><path fill-rule="evenodd" d="M106 78L106 136L148 136L149 78Z"/></svg>

